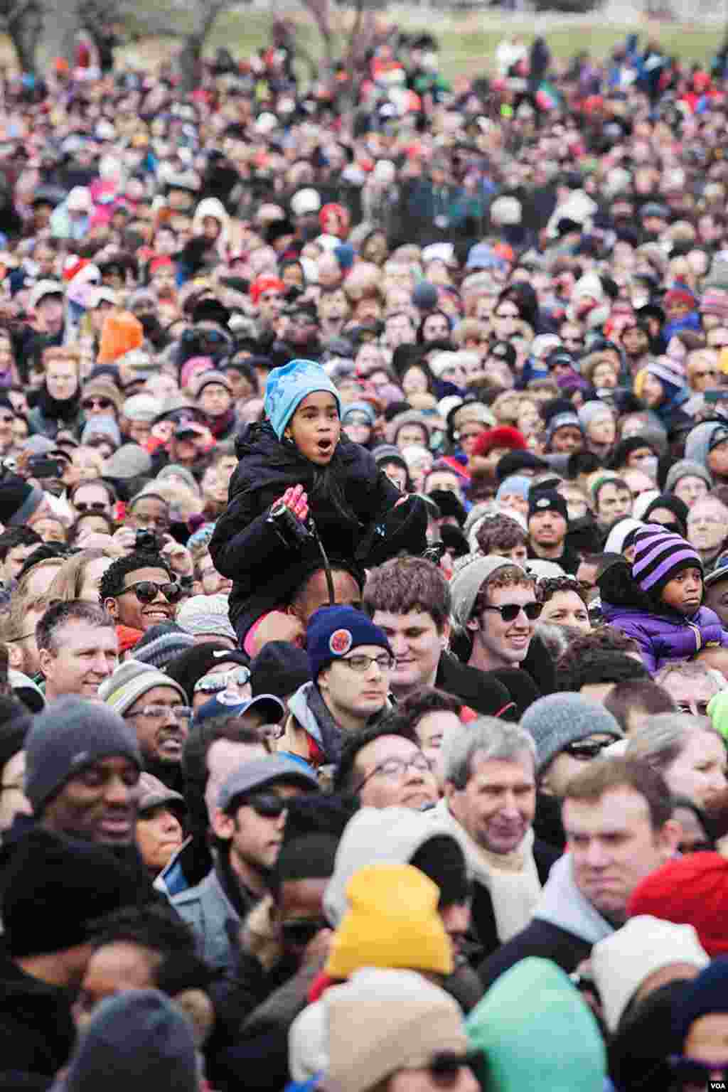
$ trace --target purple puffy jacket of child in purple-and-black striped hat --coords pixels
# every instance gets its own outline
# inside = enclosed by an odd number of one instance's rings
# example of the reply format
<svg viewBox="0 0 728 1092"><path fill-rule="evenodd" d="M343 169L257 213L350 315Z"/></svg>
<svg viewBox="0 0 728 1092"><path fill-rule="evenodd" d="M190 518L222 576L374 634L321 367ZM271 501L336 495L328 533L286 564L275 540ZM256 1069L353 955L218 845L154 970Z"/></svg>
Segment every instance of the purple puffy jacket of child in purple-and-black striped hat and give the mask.
<svg viewBox="0 0 728 1092"><path fill-rule="evenodd" d="M664 615L613 606L601 601L601 617L608 626L621 629L640 645L651 675L673 660L690 660L708 645L728 648L728 632L709 607L700 607L689 618L665 608Z"/></svg>

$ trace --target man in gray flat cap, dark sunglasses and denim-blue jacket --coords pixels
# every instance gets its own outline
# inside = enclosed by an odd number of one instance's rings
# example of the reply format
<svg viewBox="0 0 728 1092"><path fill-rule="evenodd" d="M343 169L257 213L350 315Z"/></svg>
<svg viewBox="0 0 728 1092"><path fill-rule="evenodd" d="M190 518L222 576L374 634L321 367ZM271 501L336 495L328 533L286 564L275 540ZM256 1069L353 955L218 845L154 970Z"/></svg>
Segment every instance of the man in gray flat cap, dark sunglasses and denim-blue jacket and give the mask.
<svg viewBox="0 0 728 1092"><path fill-rule="evenodd" d="M223 783L212 820L216 866L201 883L171 900L212 968L236 969L239 953L230 937L268 893L286 826L286 802L317 788L315 774L283 755L243 762Z"/></svg>

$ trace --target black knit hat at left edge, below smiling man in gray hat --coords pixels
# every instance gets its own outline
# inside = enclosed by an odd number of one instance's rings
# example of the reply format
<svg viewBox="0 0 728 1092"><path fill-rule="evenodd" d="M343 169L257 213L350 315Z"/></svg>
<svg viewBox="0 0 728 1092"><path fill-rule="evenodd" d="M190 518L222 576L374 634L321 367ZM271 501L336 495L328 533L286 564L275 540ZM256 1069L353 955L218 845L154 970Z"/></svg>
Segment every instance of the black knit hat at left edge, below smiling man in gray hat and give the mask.
<svg viewBox="0 0 728 1092"><path fill-rule="evenodd" d="M34 827L3 876L3 940L14 958L87 940L91 922L139 902L139 880L110 850Z"/></svg>

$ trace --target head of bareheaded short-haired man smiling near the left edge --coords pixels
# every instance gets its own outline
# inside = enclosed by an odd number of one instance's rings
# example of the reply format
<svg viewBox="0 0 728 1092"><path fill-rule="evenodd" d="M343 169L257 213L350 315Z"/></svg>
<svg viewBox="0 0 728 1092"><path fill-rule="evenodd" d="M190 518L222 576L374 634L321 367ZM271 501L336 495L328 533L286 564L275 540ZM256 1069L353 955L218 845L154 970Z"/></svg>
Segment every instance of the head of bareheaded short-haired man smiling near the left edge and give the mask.
<svg viewBox="0 0 728 1092"><path fill-rule="evenodd" d="M119 641L114 619L95 603L70 600L56 603L36 626L46 701L75 693L91 701L115 670Z"/></svg>

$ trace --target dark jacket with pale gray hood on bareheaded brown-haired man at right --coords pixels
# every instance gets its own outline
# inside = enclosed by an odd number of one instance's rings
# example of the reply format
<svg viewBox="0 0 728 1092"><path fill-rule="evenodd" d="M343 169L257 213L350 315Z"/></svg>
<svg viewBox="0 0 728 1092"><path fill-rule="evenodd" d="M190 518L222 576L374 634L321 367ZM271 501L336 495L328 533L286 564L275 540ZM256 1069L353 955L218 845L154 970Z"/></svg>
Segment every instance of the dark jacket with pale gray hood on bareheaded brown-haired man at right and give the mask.
<svg viewBox="0 0 728 1092"><path fill-rule="evenodd" d="M478 968L486 989L505 971L527 956L558 963L568 974L587 959L597 940L614 927L599 914L576 887L570 854L551 868L530 925L499 948Z"/></svg>

